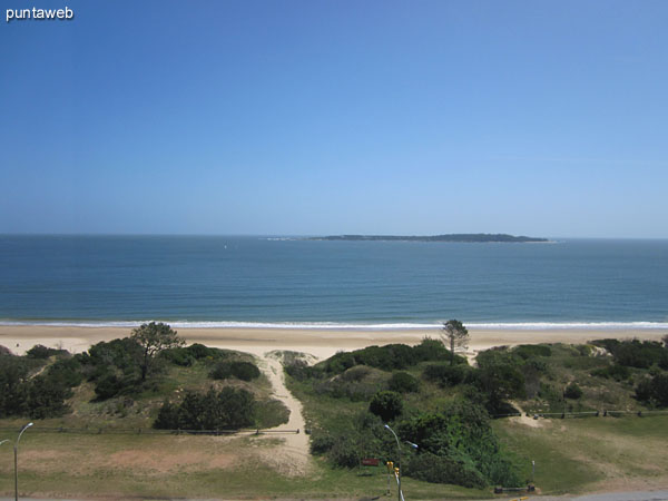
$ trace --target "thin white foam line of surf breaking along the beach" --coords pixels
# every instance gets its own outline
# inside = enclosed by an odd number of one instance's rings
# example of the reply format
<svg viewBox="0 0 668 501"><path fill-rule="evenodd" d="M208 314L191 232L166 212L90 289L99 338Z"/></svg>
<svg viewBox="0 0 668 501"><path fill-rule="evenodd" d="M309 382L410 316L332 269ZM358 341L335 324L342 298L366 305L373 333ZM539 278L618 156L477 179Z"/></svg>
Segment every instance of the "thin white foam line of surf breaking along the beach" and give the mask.
<svg viewBox="0 0 668 501"><path fill-rule="evenodd" d="M442 324L433 323L336 323L336 322L189 322L169 320L146 321L0 321L3 326L55 326L55 327L122 327L134 328L148 322L165 322L174 328L272 328L321 331L419 331L434 330ZM466 327L487 331L549 331L549 330L668 330L662 322L517 322L466 323Z"/></svg>

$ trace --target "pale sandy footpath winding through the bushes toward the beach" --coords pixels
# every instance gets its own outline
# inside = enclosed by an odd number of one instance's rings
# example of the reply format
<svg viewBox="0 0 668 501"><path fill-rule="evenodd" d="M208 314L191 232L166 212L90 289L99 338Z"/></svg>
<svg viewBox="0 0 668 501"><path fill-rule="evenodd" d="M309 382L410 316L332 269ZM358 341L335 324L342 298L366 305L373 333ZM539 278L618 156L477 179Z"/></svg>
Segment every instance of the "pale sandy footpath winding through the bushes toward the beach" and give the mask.
<svg viewBox="0 0 668 501"><path fill-rule="evenodd" d="M262 360L264 362L262 369L274 387L272 396L283 402L289 410L288 422L272 430L299 430L298 433L286 433L284 435L273 433L262 435L282 440L279 445L267 451L264 459L282 473L288 475L308 474L313 464L308 448L308 435L304 432L305 421L302 413L302 403L285 386L283 364L272 353L265 353Z"/></svg>

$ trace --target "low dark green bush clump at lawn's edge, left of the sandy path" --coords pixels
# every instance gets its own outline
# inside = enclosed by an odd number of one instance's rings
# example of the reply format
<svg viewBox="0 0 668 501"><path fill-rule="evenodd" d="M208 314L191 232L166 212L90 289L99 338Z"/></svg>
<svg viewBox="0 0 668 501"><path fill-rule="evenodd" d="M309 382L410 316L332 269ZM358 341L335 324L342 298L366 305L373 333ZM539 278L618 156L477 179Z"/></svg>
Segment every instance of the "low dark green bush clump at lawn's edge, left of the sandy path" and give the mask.
<svg viewBox="0 0 668 501"><path fill-rule="evenodd" d="M255 422L255 399L245 390L224 387L206 394L186 393L183 402L164 402L154 428L163 430L225 430Z"/></svg>

